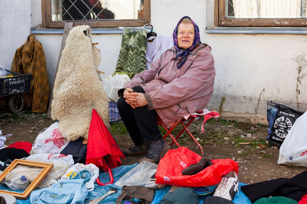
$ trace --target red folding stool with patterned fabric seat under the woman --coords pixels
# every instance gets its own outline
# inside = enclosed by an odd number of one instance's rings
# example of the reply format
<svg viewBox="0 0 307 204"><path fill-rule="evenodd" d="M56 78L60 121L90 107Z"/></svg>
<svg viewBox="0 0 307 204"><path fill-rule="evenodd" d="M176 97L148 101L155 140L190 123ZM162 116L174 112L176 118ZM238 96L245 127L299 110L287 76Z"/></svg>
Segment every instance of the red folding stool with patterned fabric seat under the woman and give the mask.
<svg viewBox="0 0 307 204"><path fill-rule="evenodd" d="M220 114L218 112L215 111L208 111L207 109L203 109L201 111L197 111L195 113L190 113L188 115L185 115L182 119L177 120L173 126L168 129L167 126L163 123L163 121L161 120L161 118L156 115L156 119L157 119L157 123L158 125L162 126L165 130L166 130L166 134L163 136L163 138L165 139L168 135L172 138L173 142L171 142L171 146L175 143L177 145L177 147L181 147L179 145L179 143L177 142L177 139L180 137L180 135L184 132L187 131L187 133L190 135L190 137L193 139L193 141L196 143L196 145L199 147L200 149L200 153L202 155L204 155L204 151L202 146L199 144L199 142L195 139L195 137L193 136L193 134L190 132L190 130L188 130L188 126L193 122L193 120L196 117L200 117L200 116L204 116L204 122L202 124L202 132L204 132L204 123L211 117L220 117ZM185 125L185 123L183 123L184 121L188 121L187 125ZM183 129L179 132L179 134L174 137L173 134L171 133L173 131L173 129L178 125L181 124L183 126Z"/></svg>

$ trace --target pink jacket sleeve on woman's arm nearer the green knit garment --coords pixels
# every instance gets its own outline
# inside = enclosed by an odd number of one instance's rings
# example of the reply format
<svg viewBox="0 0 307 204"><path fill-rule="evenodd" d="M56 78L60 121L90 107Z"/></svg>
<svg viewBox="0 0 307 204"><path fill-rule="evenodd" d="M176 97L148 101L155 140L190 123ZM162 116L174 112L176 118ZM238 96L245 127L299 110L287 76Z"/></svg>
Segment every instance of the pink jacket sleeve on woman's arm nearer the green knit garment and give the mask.
<svg viewBox="0 0 307 204"><path fill-rule="evenodd" d="M164 53L162 53L162 55L150 65L149 70L144 70L141 72L141 74L134 75L134 77L132 77L132 79L128 81L127 83L125 83L122 87L132 88L140 84L146 84L150 82L151 80L153 80L158 70L161 67L163 57L164 57Z"/></svg>

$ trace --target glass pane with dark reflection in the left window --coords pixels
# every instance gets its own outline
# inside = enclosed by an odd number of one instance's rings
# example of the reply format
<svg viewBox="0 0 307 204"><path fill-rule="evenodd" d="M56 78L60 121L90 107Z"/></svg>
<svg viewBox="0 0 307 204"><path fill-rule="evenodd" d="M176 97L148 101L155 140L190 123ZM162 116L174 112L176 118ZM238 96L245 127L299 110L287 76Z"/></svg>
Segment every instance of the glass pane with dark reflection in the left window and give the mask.
<svg viewBox="0 0 307 204"><path fill-rule="evenodd" d="M51 0L52 21L145 19L144 0Z"/></svg>

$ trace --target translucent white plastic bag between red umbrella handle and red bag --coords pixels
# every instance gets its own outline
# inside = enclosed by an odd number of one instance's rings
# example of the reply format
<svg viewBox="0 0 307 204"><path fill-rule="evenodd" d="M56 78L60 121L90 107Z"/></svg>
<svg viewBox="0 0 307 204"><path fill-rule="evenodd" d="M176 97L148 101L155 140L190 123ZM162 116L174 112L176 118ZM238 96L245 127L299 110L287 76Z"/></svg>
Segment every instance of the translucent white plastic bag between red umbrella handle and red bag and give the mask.
<svg viewBox="0 0 307 204"><path fill-rule="evenodd" d="M157 172L158 164L150 161L142 161L136 167L127 172L114 185L123 186L142 186L146 184L150 177Z"/></svg>

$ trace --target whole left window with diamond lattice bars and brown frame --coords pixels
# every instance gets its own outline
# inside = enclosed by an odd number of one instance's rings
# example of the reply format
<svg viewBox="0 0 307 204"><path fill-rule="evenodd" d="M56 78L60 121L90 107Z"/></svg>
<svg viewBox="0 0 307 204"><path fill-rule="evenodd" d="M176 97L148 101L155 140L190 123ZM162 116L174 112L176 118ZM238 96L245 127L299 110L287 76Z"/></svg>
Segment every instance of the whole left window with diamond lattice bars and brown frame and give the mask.
<svg viewBox="0 0 307 204"><path fill-rule="evenodd" d="M46 0L42 10L45 28L63 28L67 21L91 27L150 23L150 0Z"/></svg>

